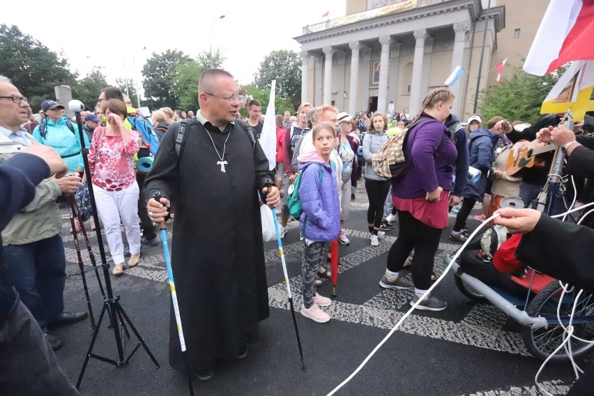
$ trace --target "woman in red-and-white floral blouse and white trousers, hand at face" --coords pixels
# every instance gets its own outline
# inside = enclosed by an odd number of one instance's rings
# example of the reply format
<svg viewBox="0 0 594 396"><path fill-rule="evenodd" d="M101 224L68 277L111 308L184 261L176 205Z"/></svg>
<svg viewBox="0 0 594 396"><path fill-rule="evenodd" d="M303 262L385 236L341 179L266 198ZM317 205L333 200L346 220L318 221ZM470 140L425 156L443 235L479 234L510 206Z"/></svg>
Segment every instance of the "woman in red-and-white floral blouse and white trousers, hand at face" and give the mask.
<svg viewBox="0 0 594 396"><path fill-rule="evenodd" d="M91 183L99 218L114 260L114 275L123 272L124 252L120 222L130 246L128 266L138 264L140 258L140 227L137 215L138 184L134 154L139 149L138 132L129 130L123 121L127 116L121 100L110 99L104 107L107 127L93 132L89 148Z"/></svg>

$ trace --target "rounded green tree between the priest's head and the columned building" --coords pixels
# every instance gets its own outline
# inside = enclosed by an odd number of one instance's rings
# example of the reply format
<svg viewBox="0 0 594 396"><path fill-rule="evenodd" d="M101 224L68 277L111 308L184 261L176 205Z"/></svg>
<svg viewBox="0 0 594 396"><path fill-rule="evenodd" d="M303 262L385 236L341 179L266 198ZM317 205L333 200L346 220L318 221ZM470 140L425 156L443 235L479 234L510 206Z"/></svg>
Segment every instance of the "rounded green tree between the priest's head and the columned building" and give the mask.
<svg viewBox="0 0 594 396"><path fill-rule="evenodd" d="M289 100L292 109L301 102L301 57L294 51L273 51L264 58L254 74L254 84L259 89L271 89L276 79L276 95Z"/></svg>

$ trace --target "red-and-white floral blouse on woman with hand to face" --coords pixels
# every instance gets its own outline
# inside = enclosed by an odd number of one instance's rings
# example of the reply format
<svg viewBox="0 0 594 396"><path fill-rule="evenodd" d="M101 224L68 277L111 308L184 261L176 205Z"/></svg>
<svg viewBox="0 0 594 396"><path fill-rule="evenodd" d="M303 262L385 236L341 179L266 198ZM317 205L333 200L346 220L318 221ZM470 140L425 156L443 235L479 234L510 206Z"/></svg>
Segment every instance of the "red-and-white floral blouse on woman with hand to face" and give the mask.
<svg viewBox="0 0 594 396"><path fill-rule="evenodd" d="M105 135L105 127L93 132L89 147L91 182L107 191L121 191L136 181L134 154L139 150L140 135L130 130L130 142L124 143L121 135Z"/></svg>

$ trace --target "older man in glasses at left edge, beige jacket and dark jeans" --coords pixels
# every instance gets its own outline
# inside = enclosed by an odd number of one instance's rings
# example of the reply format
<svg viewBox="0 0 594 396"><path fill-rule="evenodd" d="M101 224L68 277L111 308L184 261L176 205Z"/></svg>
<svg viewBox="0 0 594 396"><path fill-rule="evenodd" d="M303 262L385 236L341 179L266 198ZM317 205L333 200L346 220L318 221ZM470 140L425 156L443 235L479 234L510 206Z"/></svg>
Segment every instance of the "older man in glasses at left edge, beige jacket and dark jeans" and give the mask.
<svg viewBox="0 0 594 396"><path fill-rule="evenodd" d="M6 160L35 139L22 130L29 103L6 77L0 77L0 160ZM45 333L52 349L63 343L47 333L48 326L74 323L84 313L65 312L63 291L66 257L62 243L61 215L56 198L81 185L78 176L45 178L36 186L33 201L18 212L2 231L3 260L10 282Z"/></svg>

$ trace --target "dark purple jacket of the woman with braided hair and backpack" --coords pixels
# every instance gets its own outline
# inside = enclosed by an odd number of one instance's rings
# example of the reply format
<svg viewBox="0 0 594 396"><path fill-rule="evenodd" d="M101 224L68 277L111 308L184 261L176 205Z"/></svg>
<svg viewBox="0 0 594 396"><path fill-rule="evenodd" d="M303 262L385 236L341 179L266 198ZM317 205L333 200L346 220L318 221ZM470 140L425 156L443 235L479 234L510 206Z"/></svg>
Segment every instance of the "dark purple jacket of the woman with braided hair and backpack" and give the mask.
<svg viewBox="0 0 594 396"><path fill-rule="evenodd" d="M402 178L393 179L392 195L412 199L424 198L438 186L452 190L454 166L463 165L457 164L457 157L448 128L435 119L423 121L411 131L404 148L404 158L413 162L413 169Z"/></svg>

